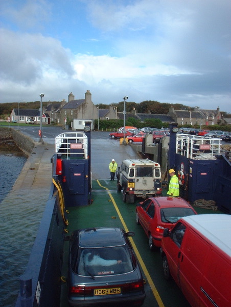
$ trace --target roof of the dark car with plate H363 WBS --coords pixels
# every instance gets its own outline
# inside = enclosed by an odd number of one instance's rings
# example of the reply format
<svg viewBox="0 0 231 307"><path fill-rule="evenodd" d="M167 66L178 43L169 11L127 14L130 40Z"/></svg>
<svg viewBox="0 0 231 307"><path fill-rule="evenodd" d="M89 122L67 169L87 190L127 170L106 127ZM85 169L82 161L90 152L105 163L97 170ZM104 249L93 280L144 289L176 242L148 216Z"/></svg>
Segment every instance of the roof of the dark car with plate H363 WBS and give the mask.
<svg viewBox="0 0 231 307"><path fill-rule="evenodd" d="M126 244L121 228L98 227L79 229L80 247L110 247Z"/></svg>

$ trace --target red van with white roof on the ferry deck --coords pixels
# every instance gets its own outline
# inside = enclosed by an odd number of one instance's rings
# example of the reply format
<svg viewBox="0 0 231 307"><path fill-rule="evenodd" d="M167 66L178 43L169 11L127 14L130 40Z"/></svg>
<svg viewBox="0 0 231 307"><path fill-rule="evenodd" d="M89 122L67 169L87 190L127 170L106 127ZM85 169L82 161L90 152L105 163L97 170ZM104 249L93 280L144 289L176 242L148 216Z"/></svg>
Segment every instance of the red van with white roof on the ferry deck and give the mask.
<svg viewBox="0 0 231 307"><path fill-rule="evenodd" d="M231 306L231 215L181 218L161 242L164 276L192 307Z"/></svg>

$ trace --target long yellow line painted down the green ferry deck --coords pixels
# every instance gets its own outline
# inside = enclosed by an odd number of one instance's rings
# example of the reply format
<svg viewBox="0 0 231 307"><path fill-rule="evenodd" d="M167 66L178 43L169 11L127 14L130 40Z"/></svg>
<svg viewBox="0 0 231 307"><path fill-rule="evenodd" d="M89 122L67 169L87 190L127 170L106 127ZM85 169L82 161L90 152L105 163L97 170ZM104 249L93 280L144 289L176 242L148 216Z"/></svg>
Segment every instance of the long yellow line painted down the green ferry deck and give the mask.
<svg viewBox="0 0 231 307"><path fill-rule="evenodd" d="M124 230L125 230L125 232L128 232L128 228L127 228L127 226L126 226L126 224L125 224L125 221L124 221L124 219L123 219L123 217L122 217L122 215L121 215L121 213L120 213L120 210L119 210L119 208L117 207L116 201L114 201L114 198L113 198L113 196L111 195L110 191L108 190L108 188L102 186L102 185L100 184L100 182L99 182L98 179L97 179L97 182L98 182L98 185L99 185L100 187L102 187L102 188L104 188L104 189L107 190L107 192L108 192L108 194L109 194L109 196L110 196L110 198L111 198L111 201L112 201L112 203L113 203L113 205L114 205L114 208L116 209L117 214L119 215L120 220L121 220L121 222L122 222L122 224L123 224ZM144 273L145 273L145 276L146 276L146 278L147 278L147 281L148 281L148 283L149 283L149 285L150 285L150 287L151 287L151 289L152 289L152 293L153 293L153 295L155 296L155 299L156 299L156 301L157 301L159 307L164 307L165 305L164 305L163 301L161 300L158 291L156 290L156 287L155 287L155 285L154 285L154 283L153 283L153 281L152 281L152 278L151 278L151 276L149 275L149 272L148 272L148 270L147 270L147 268L146 268L146 266L145 266L145 264L144 264L144 261L143 261L142 258L141 258L140 253L138 252L138 249L137 249L137 247L136 247L136 245L135 245L135 243L134 243L132 237L129 237L129 239L130 239L130 241L131 241L131 245L132 245L132 247L133 247L133 249L134 249L134 252L135 252L135 254L136 254L136 257L137 257L138 261L140 262L140 265L141 265L141 267L142 267L142 269L143 269L143 271L144 271Z"/></svg>

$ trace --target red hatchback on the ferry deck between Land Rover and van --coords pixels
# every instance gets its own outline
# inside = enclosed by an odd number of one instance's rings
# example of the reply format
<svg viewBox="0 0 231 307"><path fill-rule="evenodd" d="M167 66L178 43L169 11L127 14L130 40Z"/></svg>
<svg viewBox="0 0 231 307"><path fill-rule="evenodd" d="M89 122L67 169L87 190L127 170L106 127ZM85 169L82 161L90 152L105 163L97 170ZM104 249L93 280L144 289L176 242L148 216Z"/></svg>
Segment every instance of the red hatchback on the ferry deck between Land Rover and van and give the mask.
<svg viewBox="0 0 231 307"><path fill-rule="evenodd" d="M183 216L197 214L180 197L150 197L136 205L136 224L141 224L149 238L149 248L161 247L164 229L172 227Z"/></svg>

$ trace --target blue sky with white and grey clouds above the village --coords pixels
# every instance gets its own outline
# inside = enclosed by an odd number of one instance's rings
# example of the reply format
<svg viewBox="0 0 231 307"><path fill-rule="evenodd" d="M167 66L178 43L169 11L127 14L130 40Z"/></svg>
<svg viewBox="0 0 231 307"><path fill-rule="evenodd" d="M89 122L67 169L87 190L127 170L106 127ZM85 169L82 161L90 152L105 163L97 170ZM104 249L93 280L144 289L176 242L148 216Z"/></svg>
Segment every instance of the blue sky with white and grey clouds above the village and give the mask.
<svg viewBox="0 0 231 307"><path fill-rule="evenodd" d="M0 103L84 98L231 113L230 0L1 0Z"/></svg>

